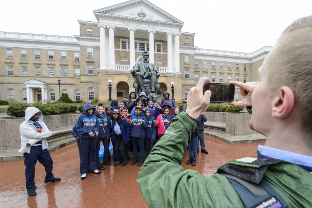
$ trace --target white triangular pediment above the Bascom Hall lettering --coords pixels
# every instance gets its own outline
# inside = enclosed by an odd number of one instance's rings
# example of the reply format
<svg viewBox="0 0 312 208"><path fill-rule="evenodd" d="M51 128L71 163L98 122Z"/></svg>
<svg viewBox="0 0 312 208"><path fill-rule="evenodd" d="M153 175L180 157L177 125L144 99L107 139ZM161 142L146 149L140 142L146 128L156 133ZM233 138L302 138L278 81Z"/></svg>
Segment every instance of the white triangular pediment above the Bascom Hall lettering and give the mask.
<svg viewBox="0 0 312 208"><path fill-rule="evenodd" d="M131 18L144 21L170 22L184 24L181 20L173 17L161 8L146 0L130 0L110 7L93 11L99 21L99 17L109 15L110 17Z"/></svg>

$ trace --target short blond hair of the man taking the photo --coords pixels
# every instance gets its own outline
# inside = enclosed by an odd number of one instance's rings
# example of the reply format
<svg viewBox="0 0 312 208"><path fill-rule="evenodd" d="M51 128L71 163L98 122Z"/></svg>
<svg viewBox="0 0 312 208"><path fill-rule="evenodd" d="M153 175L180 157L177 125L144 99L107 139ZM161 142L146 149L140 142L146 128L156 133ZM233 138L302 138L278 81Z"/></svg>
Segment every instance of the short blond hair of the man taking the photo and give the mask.
<svg viewBox="0 0 312 208"><path fill-rule="evenodd" d="M268 87L288 86L302 109L302 125L312 129L312 16L296 20L282 33L263 64ZM310 130L311 132L311 130Z"/></svg>

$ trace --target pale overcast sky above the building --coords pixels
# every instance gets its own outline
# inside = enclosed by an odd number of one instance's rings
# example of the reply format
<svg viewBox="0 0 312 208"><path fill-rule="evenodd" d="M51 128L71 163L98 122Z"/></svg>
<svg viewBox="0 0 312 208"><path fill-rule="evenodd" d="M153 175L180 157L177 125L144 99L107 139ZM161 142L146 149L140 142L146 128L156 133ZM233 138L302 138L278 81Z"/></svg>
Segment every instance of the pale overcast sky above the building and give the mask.
<svg viewBox="0 0 312 208"><path fill-rule="evenodd" d="M0 31L79 35L77 20L124 0L10 0L0 6ZM250 53L274 46L295 19L312 15L311 0L149 0L196 33L195 46Z"/></svg>

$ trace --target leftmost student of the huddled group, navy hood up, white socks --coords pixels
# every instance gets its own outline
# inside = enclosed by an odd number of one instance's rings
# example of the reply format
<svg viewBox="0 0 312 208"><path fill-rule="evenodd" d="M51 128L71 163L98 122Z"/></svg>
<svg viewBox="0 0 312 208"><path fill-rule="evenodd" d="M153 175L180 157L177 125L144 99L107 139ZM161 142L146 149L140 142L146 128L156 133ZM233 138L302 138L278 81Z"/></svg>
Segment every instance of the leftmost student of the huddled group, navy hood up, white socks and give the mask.
<svg viewBox="0 0 312 208"><path fill-rule="evenodd" d="M96 140L99 135L100 124L96 116L94 116L95 107L90 103L85 104L82 114L76 122L76 131L80 135L80 174L81 180L86 177L87 171L95 174L101 172L96 169Z"/></svg>

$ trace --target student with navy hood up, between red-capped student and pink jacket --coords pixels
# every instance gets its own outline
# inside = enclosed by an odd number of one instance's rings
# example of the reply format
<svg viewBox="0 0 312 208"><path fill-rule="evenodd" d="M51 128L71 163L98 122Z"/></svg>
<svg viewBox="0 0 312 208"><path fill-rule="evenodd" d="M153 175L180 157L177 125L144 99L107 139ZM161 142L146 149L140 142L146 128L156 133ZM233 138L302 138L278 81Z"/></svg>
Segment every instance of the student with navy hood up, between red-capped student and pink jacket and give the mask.
<svg viewBox="0 0 312 208"><path fill-rule="evenodd" d="M145 149L147 157L149 156L149 153L155 145L155 139L157 134L157 127L155 126L155 123L158 123L158 121L152 115L151 108L145 109L145 115L147 123L147 128L145 129Z"/></svg>

